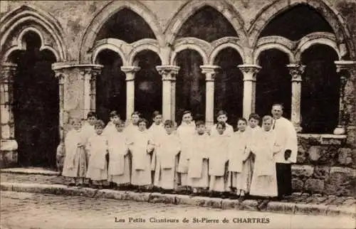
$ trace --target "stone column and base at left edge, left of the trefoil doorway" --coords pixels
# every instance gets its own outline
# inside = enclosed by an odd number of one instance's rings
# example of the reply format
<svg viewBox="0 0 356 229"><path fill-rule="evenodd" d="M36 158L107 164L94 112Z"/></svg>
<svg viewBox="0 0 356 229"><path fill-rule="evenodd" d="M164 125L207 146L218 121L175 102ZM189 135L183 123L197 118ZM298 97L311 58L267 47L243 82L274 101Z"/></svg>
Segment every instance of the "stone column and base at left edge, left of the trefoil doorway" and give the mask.
<svg viewBox="0 0 356 229"><path fill-rule="evenodd" d="M1 63L0 75L0 168L6 168L17 164L17 142L14 129L14 77L16 65Z"/></svg>

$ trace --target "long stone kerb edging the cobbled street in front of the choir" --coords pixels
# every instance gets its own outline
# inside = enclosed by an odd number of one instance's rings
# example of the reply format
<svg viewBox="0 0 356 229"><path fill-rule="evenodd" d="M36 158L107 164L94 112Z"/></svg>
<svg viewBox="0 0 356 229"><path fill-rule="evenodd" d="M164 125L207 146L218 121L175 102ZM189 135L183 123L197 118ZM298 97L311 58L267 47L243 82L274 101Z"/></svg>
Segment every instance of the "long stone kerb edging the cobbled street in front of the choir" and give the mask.
<svg viewBox="0 0 356 229"><path fill-rule="evenodd" d="M115 200L143 201L150 203L174 203L190 206L236 209L244 211L258 211L258 201L189 197L184 195L161 194L161 193L135 193L132 191L115 191L110 189L93 189L68 187L65 185L38 184L38 183L0 183L1 191L17 191L28 193L51 193L65 196L85 196L89 198L108 198ZM356 218L355 206L325 206L322 204L286 203L271 201L267 204L264 212L305 214L305 215L330 215L347 216Z"/></svg>

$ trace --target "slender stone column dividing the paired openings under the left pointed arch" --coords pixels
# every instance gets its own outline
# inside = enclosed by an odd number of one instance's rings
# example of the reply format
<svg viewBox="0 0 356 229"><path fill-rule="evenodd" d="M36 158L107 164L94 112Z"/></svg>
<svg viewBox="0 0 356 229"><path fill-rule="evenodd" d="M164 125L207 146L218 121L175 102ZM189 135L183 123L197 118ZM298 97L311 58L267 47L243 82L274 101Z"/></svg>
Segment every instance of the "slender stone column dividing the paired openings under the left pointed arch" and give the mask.
<svg viewBox="0 0 356 229"><path fill-rule="evenodd" d="M121 70L126 74L126 119L130 119L135 111L135 73L141 68L137 66L122 66Z"/></svg>

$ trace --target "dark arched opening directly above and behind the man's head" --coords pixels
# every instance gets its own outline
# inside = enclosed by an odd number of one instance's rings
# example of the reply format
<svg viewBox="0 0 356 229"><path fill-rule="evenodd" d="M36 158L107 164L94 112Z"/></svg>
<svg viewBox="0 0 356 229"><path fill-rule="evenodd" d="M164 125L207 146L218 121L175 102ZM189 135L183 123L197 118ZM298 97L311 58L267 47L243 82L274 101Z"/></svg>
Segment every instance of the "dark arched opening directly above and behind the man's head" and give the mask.
<svg viewBox="0 0 356 229"><path fill-rule="evenodd" d="M261 70L256 77L256 113L271 115L273 103L282 103L283 117L290 119L292 82L287 65L288 55L280 50L265 50L260 54Z"/></svg>

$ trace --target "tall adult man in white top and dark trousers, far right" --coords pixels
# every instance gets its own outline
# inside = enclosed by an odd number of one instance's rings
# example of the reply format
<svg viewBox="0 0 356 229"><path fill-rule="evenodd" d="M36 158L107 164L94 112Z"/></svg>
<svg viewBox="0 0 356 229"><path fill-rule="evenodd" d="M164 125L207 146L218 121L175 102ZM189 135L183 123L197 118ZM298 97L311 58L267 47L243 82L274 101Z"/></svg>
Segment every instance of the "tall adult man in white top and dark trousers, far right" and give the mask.
<svg viewBox="0 0 356 229"><path fill-rule="evenodd" d="M278 198L289 196L292 193L291 163L297 161L298 140L295 128L288 119L282 117L283 105L272 106L273 129L276 132L277 144L281 151L275 155Z"/></svg>

